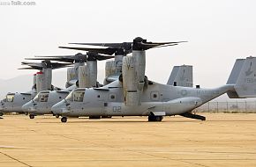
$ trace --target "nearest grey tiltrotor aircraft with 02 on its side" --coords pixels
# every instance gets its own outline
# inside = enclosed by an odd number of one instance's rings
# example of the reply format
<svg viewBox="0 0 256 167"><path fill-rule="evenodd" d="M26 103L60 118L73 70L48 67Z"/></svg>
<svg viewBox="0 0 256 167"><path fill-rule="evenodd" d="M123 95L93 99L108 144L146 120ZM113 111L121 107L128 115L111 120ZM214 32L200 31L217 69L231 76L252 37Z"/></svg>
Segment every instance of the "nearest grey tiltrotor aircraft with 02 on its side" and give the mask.
<svg viewBox="0 0 256 167"><path fill-rule="evenodd" d="M237 59L227 84L215 89L180 87L157 84L145 76L145 51L154 47L177 45L173 42L154 43L142 38L132 42L132 55L123 59L122 76L102 88L76 89L64 100L53 105L52 112L67 117L148 116L148 121L161 121L163 116L181 115L206 120L192 110L208 101L228 93L230 98L256 97L256 57ZM64 47L92 50L85 47ZM105 50L115 50L113 47ZM104 50L102 49L102 50ZM98 53L101 49L97 50Z"/></svg>

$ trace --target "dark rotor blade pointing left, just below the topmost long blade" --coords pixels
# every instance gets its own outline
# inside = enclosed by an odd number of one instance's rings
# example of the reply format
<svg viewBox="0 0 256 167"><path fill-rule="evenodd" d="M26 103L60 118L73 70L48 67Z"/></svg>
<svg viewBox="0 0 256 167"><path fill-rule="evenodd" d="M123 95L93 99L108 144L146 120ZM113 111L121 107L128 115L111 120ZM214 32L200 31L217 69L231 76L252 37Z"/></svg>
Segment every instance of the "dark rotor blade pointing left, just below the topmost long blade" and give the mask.
<svg viewBox="0 0 256 167"><path fill-rule="evenodd" d="M59 48L67 48L74 50L83 50L83 51L91 51L99 54L109 54L112 55L117 51L117 48L107 47L107 48L89 48L89 47L59 47Z"/></svg>

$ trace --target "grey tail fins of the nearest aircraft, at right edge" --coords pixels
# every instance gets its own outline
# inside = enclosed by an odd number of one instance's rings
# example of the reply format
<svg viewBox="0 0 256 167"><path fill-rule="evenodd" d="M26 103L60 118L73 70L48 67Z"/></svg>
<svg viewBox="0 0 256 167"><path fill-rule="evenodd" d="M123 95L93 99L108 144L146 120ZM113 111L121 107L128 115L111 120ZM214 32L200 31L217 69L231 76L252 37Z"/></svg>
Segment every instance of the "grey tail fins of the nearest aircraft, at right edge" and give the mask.
<svg viewBox="0 0 256 167"><path fill-rule="evenodd" d="M238 59L227 84L235 84L236 92L230 92L230 95L237 98L256 98L256 57Z"/></svg>

